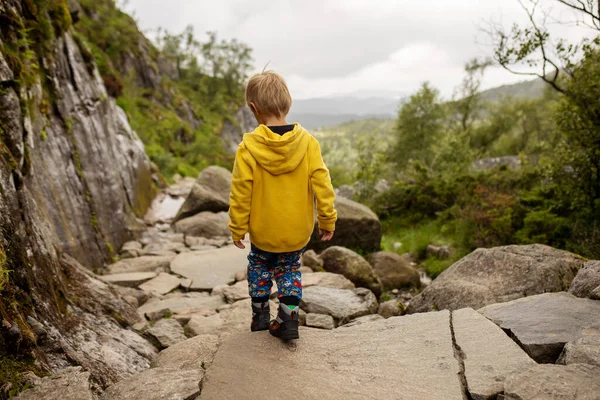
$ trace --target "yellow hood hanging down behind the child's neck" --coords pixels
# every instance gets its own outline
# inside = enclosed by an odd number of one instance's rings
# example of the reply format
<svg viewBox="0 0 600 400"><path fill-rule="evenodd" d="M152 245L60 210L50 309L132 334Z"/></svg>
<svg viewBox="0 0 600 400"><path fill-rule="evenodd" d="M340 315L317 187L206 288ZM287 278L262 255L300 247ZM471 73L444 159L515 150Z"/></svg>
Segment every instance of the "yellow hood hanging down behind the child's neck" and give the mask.
<svg viewBox="0 0 600 400"><path fill-rule="evenodd" d="M244 135L244 145L261 167L272 175L295 170L308 150L310 135L300 124L284 135L278 135L265 125Z"/></svg>

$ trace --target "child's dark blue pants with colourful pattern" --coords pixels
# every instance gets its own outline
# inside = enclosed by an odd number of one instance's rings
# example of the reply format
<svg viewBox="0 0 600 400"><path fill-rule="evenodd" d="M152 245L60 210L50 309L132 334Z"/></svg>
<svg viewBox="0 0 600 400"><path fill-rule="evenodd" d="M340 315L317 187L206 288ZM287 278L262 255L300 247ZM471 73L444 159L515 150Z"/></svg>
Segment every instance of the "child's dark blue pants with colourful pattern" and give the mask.
<svg viewBox="0 0 600 400"><path fill-rule="evenodd" d="M248 290L250 296L270 296L273 275L277 283L277 297L302 298L302 274L300 257L304 250L291 253L270 253L252 245L248 255Z"/></svg>

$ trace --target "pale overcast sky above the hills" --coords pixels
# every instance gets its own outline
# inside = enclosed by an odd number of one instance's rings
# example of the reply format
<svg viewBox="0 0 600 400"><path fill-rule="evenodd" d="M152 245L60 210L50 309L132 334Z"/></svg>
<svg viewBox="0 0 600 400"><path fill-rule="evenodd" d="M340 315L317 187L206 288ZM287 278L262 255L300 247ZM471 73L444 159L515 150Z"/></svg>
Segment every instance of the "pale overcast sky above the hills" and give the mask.
<svg viewBox="0 0 600 400"><path fill-rule="evenodd" d="M554 0L553 15L573 19ZM297 99L339 94L414 92L430 81L449 98L463 65L491 54L481 32L489 20L525 23L517 0L129 0L143 31L175 33L193 25L237 38L254 50L255 69L286 78ZM572 40L582 28L553 28ZM500 68L488 70L484 87L523 80Z"/></svg>

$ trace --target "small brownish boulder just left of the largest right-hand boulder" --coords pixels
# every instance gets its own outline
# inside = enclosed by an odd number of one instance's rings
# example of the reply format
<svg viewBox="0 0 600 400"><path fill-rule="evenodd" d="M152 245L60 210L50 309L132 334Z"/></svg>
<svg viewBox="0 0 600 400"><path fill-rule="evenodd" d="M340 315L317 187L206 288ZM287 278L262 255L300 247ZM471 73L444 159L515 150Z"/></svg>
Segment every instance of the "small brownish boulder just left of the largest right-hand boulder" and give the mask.
<svg viewBox="0 0 600 400"><path fill-rule="evenodd" d="M369 256L369 263L381 280L383 290L421 286L419 273L410 265L408 257L380 251Z"/></svg>

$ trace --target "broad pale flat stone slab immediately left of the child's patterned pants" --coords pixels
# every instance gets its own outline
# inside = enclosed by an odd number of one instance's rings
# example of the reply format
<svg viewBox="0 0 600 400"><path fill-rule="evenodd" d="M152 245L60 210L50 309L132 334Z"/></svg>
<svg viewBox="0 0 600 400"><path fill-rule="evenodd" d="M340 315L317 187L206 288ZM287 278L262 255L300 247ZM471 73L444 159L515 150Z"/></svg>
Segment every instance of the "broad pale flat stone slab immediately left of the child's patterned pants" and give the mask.
<svg viewBox="0 0 600 400"><path fill-rule="evenodd" d="M212 290L235 282L235 274L248 265L249 246L234 246L179 254L171 262L171 271L191 279L191 290Z"/></svg>

